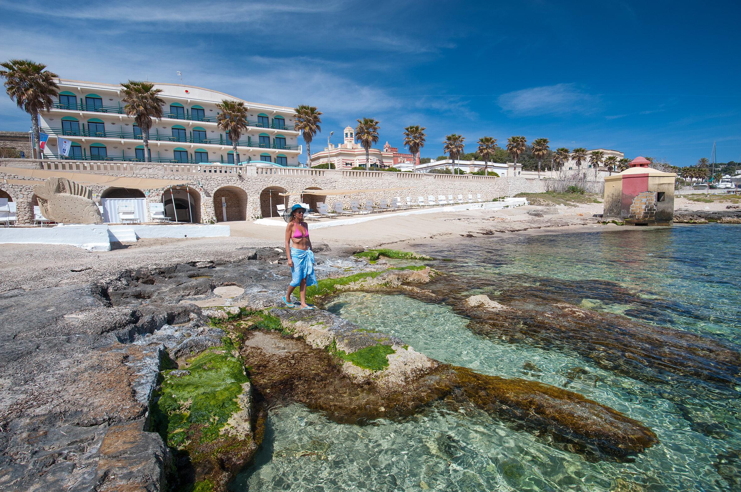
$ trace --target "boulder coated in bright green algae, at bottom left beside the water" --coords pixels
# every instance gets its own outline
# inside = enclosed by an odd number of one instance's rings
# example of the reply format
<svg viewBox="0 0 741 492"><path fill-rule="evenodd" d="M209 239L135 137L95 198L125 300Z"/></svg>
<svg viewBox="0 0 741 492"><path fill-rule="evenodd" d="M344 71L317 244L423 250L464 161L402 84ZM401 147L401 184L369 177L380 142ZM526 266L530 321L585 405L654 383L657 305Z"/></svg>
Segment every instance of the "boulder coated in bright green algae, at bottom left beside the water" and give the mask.
<svg viewBox="0 0 741 492"><path fill-rule="evenodd" d="M163 371L153 398L154 427L193 491L225 488L259 445L250 380L231 340L223 343Z"/></svg>

